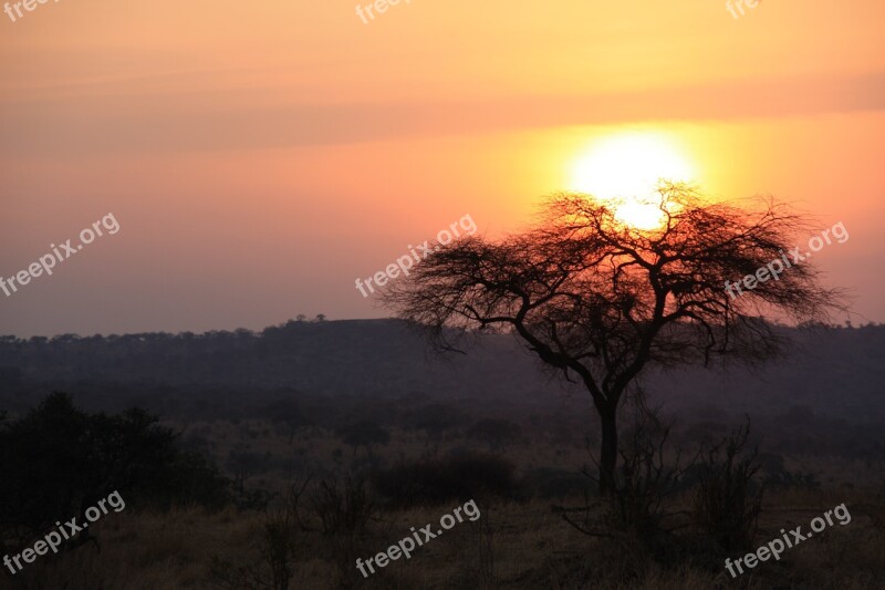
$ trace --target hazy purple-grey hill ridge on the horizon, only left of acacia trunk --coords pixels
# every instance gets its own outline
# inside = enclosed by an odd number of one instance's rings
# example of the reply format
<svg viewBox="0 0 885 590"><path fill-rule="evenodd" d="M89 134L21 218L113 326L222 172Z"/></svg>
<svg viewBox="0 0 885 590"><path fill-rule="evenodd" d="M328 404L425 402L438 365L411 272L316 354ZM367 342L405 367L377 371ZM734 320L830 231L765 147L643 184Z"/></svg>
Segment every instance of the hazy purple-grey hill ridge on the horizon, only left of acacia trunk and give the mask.
<svg viewBox="0 0 885 590"><path fill-rule="evenodd" d="M483 338L470 355L441 359L397 320L290 321L260 333L0 337L0 393L13 383L84 380L435 396L527 393L544 383L510 338Z"/></svg>

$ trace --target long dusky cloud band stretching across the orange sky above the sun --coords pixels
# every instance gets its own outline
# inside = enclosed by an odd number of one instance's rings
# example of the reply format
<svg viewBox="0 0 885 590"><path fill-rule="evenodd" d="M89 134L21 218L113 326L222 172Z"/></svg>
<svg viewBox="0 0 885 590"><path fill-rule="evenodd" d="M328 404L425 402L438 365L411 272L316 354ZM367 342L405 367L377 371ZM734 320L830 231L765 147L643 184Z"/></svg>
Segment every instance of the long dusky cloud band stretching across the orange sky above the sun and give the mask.
<svg viewBox="0 0 885 590"><path fill-rule="evenodd" d="M253 86L254 89L254 86ZM288 105L292 91L156 89L0 103L7 156L261 149L642 121L733 121L881 111L885 72L730 81L593 96Z"/></svg>

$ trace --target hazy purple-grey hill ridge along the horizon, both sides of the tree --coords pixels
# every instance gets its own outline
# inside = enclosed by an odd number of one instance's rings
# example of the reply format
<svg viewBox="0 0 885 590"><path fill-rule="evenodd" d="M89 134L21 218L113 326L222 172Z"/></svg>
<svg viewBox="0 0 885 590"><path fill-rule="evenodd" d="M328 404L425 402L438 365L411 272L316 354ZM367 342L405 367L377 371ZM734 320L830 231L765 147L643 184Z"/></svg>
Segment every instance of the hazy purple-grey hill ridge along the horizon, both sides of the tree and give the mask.
<svg viewBox="0 0 885 590"><path fill-rule="evenodd" d="M754 370L650 374L646 389L667 413L698 417L810 411L852 422L885 420L885 327L785 330L796 342L788 359ZM49 390L72 387L111 387L122 395L285 389L323 396L421 394L517 403L552 402L569 391L542 375L510 337L483 335L467 355L440 359L397 320L290 321L260 333L0 337L1 402L14 407Z"/></svg>

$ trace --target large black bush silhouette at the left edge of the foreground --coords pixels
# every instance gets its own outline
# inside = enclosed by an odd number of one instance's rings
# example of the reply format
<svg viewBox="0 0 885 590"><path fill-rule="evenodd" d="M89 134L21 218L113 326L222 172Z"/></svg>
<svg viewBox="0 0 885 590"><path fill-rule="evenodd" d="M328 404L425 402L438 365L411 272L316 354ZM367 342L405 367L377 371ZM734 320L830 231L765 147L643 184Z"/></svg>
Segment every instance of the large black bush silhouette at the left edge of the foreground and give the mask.
<svg viewBox="0 0 885 590"><path fill-rule="evenodd" d="M0 422L0 538L24 539L82 515L118 490L131 506L219 507L227 480L177 435L133 408L86 414L53 393L20 420Z"/></svg>

